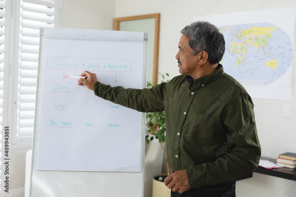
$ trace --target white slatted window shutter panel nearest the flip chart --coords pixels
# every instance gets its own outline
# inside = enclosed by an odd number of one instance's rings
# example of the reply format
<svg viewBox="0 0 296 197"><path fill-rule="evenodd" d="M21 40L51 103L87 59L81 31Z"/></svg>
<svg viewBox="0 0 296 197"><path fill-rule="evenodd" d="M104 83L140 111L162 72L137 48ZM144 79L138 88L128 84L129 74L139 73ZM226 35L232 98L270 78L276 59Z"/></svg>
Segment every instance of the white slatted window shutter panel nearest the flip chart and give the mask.
<svg viewBox="0 0 296 197"><path fill-rule="evenodd" d="M22 0L20 4L17 137L28 138L34 127L39 28L54 27L55 1Z"/></svg>

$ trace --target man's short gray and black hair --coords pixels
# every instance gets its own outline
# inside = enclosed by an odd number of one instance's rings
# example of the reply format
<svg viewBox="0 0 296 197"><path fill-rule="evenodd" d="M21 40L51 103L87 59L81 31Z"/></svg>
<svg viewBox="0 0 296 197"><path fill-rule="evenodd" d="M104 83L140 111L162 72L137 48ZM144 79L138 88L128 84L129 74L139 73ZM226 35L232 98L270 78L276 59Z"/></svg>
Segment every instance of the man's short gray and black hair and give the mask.
<svg viewBox="0 0 296 197"><path fill-rule="evenodd" d="M219 63L225 52L225 40L218 28L204 21L196 21L184 27L181 33L189 38L191 55L196 56L200 51L208 53L210 64Z"/></svg>

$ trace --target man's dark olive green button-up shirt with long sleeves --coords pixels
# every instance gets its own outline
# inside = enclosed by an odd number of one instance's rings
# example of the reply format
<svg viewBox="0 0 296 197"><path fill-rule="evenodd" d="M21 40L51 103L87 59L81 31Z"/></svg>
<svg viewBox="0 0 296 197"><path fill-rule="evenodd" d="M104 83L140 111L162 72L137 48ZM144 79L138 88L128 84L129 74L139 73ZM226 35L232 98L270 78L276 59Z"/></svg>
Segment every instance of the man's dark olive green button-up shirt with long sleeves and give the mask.
<svg viewBox="0 0 296 197"><path fill-rule="evenodd" d="M95 95L140 112L165 111L167 162L186 169L190 188L213 185L257 168L261 155L250 95L223 67L179 75L151 89L96 82Z"/></svg>

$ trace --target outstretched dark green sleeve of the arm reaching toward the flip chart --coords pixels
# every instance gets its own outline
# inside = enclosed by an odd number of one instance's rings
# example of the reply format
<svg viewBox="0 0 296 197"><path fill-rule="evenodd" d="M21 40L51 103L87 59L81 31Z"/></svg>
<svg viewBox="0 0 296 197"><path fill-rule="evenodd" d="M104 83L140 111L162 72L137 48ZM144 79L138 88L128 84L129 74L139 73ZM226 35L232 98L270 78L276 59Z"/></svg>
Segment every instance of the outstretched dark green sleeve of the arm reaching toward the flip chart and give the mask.
<svg viewBox="0 0 296 197"><path fill-rule="evenodd" d="M170 82L163 82L151 89L125 89L120 86L111 87L100 82L94 84L95 95L140 112L164 111L165 93L169 89Z"/></svg>

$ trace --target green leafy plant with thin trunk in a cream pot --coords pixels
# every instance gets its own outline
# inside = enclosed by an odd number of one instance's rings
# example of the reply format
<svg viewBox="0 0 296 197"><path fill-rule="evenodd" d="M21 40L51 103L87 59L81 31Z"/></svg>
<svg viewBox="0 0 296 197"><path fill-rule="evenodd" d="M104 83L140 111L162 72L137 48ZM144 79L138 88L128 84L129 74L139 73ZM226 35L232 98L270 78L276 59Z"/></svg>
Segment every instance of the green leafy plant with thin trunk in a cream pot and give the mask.
<svg viewBox="0 0 296 197"><path fill-rule="evenodd" d="M169 76L169 74L160 74L165 80L165 75ZM161 82L164 82L164 81ZM169 80L166 80L168 82ZM147 82L147 88L152 88L153 85L150 82ZM149 135L150 134L150 135ZM152 136L151 136L152 135ZM165 147L163 146L163 143L166 145L165 141L165 112L148 112L146 113L146 144L149 144L150 141L152 141L154 138L158 139L160 142L160 146L163 149L163 152L165 154L165 158L167 157L167 152L165 150ZM166 175L156 175L154 176L152 180L152 197L156 196L164 196L164 195L170 195L170 189L168 189L164 185L164 179L170 175L170 167L167 163L167 174ZM157 191L156 191L157 190Z"/></svg>

